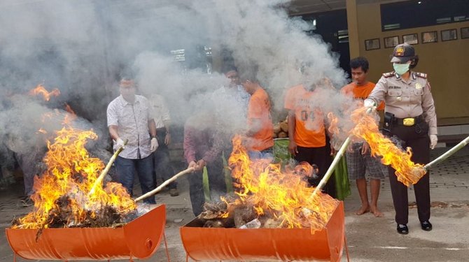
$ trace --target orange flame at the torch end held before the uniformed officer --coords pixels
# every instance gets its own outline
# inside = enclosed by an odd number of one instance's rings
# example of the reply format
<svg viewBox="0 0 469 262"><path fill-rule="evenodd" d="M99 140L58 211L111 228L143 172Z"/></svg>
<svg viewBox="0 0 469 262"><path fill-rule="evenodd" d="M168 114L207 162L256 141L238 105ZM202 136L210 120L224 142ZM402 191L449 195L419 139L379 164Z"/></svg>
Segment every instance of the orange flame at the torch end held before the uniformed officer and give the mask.
<svg viewBox="0 0 469 262"><path fill-rule="evenodd" d="M410 160L412 157L410 147L407 147L406 152L404 152L379 132L376 120L372 115L366 113L365 108L354 110L351 119L356 124L351 133L363 138L370 145L373 156L382 157L382 163L391 165L402 184L409 187L410 184L419 182L420 178L425 175L426 171L423 165Z"/></svg>

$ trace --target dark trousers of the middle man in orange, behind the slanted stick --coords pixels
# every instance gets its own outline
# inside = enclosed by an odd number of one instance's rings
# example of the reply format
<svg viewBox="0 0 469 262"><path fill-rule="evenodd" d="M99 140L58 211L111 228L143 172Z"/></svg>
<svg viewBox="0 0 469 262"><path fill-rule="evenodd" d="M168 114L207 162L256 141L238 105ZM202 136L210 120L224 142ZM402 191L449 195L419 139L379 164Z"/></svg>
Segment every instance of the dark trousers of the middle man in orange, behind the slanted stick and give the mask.
<svg viewBox="0 0 469 262"><path fill-rule="evenodd" d="M332 158L330 157L330 147L328 145L325 145L324 147L297 147L297 150L298 153L295 156L296 161L306 161L310 165L315 163L316 166L318 166L318 178L316 180L308 180L309 184L316 187L332 163ZM335 198L335 179L333 176L333 174L330 176L330 179L325 184L323 191L329 194L329 196Z"/></svg>

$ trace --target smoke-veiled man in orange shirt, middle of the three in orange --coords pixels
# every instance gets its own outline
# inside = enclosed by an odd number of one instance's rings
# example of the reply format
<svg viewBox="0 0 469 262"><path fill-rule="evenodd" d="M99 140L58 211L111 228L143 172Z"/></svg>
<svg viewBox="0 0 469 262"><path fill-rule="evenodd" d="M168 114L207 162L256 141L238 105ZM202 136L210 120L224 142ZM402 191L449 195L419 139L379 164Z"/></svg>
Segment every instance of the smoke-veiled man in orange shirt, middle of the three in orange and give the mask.
<svg viewBox="0 0 469 262"><path fill-rule="evenodd" d="M309 179L317 186L332 163L330 147L326 143L324 114L318 108L317 82L311 82L309 73L303 74L303 84L288 89L284 108L288 110L288 151L296 161L306 161L318 166L318 178ZM335 181L330 177L324 187L325 193L335 198Z"/></svg>

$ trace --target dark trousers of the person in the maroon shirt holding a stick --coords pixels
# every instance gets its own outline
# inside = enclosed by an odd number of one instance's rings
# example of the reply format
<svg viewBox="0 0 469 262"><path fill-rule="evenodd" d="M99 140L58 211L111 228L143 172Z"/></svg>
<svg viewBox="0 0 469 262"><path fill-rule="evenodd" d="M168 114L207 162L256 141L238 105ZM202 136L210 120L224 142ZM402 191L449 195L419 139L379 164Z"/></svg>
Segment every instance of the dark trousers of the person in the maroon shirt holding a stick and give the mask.
<svg viewBox="0 0 469 262"><path fill-rule="evenodd" d="M209 175L210 191L219 195L226 194L225 176L223 174L223 163L216 161L207 163L207 173ZM194 215L197 217L202 212L205 203L204 185L202 184L202 170L188 175L190 203L193 207Z"/></svg>

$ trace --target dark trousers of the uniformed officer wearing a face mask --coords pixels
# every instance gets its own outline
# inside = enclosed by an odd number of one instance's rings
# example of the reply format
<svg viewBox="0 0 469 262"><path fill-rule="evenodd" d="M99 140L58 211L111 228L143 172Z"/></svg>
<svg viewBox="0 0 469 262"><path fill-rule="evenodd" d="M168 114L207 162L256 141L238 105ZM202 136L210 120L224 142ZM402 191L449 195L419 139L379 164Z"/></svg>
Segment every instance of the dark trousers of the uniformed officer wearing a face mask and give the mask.
<svg viewBox="0 0 469 262"><path fill-rule="evenodd" d="M420 123L423 128L416 126L393 126L391 136L397 136L403 148L412 148L412 158L414 163L428 163L430 161L430 138L428 137L428 125ZM419 133L417 133L419 132ZM387 135L387 133L386 133ZM391 194L395 210L395 222L407 224L409 220L409 201L407 187L398 181L394 168L388 167L389 183L391 184ZM414 193L417 203L417 212L420 221L430 219L430 173L423 175L419 182L414 184Z"/></svg>

